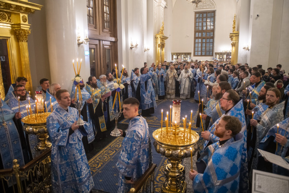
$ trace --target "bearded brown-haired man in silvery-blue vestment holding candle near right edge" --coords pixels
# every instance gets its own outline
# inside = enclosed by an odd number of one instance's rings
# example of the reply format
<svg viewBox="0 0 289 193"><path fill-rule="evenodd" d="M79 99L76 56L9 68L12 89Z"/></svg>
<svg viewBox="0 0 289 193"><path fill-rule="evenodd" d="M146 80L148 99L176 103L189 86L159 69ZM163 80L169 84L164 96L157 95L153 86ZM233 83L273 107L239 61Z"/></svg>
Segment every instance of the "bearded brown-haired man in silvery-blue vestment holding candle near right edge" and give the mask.
<svg viewBox="0 0 289 193"><path fill-rule="evenodd" d="M249 169L251 169L250 172L257 168L258 160L256 159L256 155L259 142L265 137L273 125L284 119L283 109L285 102L279 103L280 96L281 93L278 88L268 89L265 103L269 106L268 109L262 113L259 121L255 119L250 120L250 124L253 125L253 139L251 140L251 143L248 144L248 151L250 152L250 150L252 150L252 156L248 159L248 166Z"/></svg>

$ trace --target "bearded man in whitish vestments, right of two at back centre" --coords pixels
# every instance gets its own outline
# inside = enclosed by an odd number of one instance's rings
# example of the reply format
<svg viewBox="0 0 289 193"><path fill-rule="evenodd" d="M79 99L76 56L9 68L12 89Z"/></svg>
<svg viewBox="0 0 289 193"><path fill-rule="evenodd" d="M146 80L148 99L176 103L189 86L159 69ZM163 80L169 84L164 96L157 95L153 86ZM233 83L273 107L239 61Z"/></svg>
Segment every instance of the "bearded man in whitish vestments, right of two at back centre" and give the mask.
<svg viewBox="0 0 289 193"><path fill-rule="evenodd" d="M187 65L185 66L185 69L180 74L177 81L179 81L181 88L180 88L180 98L181 99L188 99L190 98L190 92L191 92L191 82L193 80L193 73L188 70Z"/></svg>

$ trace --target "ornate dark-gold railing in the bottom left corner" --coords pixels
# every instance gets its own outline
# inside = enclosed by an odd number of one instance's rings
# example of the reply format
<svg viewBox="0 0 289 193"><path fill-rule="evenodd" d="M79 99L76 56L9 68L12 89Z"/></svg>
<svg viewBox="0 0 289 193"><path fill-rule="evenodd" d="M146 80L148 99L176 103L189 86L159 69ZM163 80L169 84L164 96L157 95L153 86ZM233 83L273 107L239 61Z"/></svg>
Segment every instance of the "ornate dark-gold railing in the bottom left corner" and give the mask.
<svg viewBox="0 0 289 193"><path fill-rule="evenodd" d="M1 193L50 193L51 149L19 167L17 159L13 168L0 170Z"/></svg>

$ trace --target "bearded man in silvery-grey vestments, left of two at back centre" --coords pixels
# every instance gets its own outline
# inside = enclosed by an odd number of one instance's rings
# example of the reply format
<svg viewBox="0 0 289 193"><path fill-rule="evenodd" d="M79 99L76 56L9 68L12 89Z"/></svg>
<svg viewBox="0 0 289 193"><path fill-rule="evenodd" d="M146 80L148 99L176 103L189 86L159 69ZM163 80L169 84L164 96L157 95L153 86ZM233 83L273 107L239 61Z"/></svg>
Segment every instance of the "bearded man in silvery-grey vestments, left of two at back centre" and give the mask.
<svg viewBox="0 0 289 193"><path fill-rule="evenodd" d="M175 81L178 78L177 71L173 68L172 65L170 65L170 69L167 71L167 89L166 94L168 99L174 99L175 98L175 91L176 91L176 85Z"/></svg>

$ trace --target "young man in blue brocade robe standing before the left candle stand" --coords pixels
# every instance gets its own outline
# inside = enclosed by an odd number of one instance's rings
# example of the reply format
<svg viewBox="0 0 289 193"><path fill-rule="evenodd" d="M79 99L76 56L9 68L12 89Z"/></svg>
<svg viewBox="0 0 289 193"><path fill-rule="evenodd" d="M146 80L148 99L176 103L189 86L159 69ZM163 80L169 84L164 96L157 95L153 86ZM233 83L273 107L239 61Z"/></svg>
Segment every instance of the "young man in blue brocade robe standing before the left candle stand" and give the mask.
<svg viewBox="0 0 289 193"><path fill-rule="evenodd" d="M69 107L68 90L55 94L59 106L47 118L51 147L51 184L53 193L89 193L94 186L82 137L84 126L78 126L78 111Z"/></svg>

